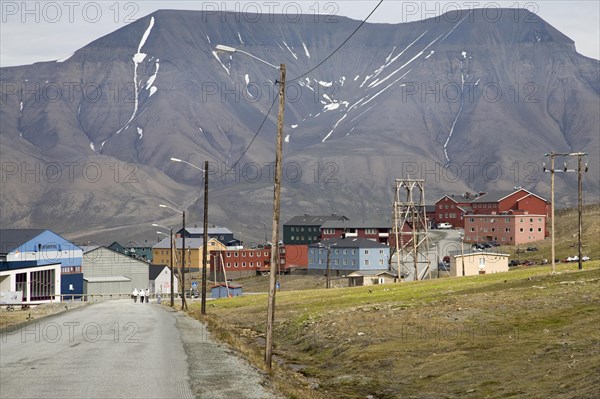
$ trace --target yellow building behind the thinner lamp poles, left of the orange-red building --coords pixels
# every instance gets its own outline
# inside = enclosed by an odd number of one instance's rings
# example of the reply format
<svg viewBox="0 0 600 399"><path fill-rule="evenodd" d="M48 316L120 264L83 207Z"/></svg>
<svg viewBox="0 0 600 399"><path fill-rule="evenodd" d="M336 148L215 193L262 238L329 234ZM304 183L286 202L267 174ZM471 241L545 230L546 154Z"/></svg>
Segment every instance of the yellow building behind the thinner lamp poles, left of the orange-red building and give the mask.
<svg viewBox="0 0 600 399"><path fill-rule="evenodd" d="M175 238L175 266L181 265L182 255L182 238ZM185 268L200 269L203 266L202 262L202 247L204 240L202 238L186 238L185 239ZM212 238L208 240L208 250L210 251L223 251L227 247L222 244L219 240ZM171 239L165 238L158 244L152 247L152 263L159 265L171 266ZM210 262L207 262L210 265Z"/></svg>

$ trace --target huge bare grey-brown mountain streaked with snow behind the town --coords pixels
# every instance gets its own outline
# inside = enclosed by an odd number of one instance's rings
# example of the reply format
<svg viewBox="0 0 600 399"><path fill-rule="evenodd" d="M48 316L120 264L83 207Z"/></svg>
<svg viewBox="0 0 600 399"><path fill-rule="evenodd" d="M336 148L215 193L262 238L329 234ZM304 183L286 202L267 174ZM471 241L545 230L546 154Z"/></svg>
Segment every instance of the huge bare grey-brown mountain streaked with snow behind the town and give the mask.
<svg viewBox="0 0 600 399"><path fill-rule="evenodd" d="M359 23L164 10L66 60L2 68L0 224L147 237L179 223L159 203L200 224L202 174L176 157L210 162L211 223L262 237L279 72L217 44L286 64L283 221L389 217L406 176L430 203L515 186L549 198L550 151L587 152L586 202L599 200L600 62L568 37L526 10L474 9L367 23L335 52ZM557 174L557 205L576 184Z"/></svg>

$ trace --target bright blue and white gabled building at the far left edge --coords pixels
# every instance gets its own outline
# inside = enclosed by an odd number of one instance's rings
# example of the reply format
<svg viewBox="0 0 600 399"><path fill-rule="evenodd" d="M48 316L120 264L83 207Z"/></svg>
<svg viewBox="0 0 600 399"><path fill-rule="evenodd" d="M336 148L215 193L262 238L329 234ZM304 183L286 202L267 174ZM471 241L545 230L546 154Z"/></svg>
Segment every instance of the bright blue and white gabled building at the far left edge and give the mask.
<svg viewBox="0 0 600 399"><path fill-rule="evenodd" d="M0 229L0 261L34 261L36 267L60 264L62 295L77 298L83 294L82 258L80 247L50 230Z"/></svg>

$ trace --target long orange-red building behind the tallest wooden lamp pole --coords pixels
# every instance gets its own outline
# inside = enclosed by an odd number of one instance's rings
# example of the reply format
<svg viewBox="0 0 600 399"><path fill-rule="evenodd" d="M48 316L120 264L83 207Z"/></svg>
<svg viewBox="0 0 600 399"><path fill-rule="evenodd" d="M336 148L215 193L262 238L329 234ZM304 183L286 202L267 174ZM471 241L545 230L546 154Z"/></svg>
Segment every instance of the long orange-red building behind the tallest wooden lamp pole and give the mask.
<svg viewBox="0 0 600 399"><path fill-rule="evenodd" d="M268 273L271 270L271 247L211 251L210 276L228 280ZM284 245L279 247L279 272L308 268L307 245Z"/></svg>

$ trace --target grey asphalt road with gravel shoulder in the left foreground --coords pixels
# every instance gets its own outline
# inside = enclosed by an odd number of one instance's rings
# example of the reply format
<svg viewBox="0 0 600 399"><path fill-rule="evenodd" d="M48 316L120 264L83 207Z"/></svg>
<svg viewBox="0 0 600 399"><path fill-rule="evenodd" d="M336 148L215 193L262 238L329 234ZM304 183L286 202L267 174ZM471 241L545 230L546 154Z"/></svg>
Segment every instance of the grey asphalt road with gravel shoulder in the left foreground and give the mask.
<svg viewBox="0 0 600 399"><path fill-rule="evenodd" d="M204 325L113 300L0 334L0 398L270 398Z"/></svg>

